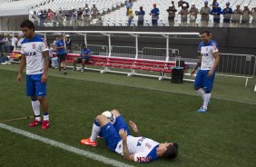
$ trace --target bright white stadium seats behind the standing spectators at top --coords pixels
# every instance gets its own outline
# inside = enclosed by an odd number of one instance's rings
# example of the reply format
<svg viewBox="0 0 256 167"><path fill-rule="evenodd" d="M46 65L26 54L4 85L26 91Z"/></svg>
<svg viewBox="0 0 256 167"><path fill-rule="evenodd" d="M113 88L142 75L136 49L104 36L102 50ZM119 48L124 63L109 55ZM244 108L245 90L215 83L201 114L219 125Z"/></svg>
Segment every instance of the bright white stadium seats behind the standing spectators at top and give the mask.
<svg viewBox="0 0 256 167"><path fill-rule="evenodd" d="M195 0L186 0L188 3L190 3L190 5L192 3L195 4L195 6L200 10L201 7L203 6L202 1L195 1ZM151 10L153 9L153 3L155 3L155 0L138 0L136 2L133 2L133 15L135 11L139 11L140 6L143 6L143 10L145 11L145 15L144 15L144 25L152 25L152 16L149 15ZM175 6L176 9L178 10L178 12L181 10L181 8L178 8L177 6L177 1L175 1ZM210 1L211 2L211 1ZM218 0L218 3L220 4L219 6L221 6L222 8L225 7L226 2L228 2L228 0ZM231 7L234 9L235 5L241 5L241 7L243 7L244 4L248 4L249 6L253 6L253 2L252 0L230 0L231 2ZM254 6L256 7L256 1L254 2ZM168 8L168 6L171 5L171 1L169 0L162 0L162 1L157 1L157 7L160 10L160 19L159 19L159 26L166 26L169 25L168 23L168 13L166 12L166 9ZM211 6L211 3L209 3L209 5ZM118 15L118 17L116 17L116 15ZM221 20L223 19L223 16L221 15ZM197 21L196 23L200 23L201 20L201 15L198 15L197 17ZM128 17L126 16L126 8L120 8L119 10L115 10L112 13L106 14L104 15L103 18L103 25L127 25L128 24ZM175 19L175 25L180 25L180 21L181 21L181 15L176 15L176 19ZM213 16L210 16L210 25L213 23ZM134 16L133 18L133 23L132 25L137 25L137 17Z"/></svg>

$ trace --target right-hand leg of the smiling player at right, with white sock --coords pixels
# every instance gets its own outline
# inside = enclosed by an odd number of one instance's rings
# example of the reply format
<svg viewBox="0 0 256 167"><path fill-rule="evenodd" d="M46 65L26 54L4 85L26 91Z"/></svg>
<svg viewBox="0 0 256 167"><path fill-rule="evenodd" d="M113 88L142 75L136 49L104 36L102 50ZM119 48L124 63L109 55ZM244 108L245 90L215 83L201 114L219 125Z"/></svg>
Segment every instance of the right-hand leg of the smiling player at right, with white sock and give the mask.
<svg viewBox="0 0 256 167"><path fill-rule="evenodd" d="M214 77L215 77L215 72L212 74L211 77L207 76L208 73L209 73L209 71L205 74L204 81L203 81L203 87L205 90L205 98L204 98L202 107L206 110L207 110L208 104L211 99L212 83L213 83Z"/></svg>

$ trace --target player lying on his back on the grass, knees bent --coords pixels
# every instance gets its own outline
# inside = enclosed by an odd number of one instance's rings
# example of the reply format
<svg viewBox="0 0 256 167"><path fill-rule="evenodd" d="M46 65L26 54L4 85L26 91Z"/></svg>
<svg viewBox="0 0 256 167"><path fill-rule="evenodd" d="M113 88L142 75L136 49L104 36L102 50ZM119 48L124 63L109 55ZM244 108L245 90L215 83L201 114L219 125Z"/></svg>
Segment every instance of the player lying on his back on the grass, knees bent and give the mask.
<svg viewBox="0 0 256 167"><path fill-rule="evenodd" d="M82 144L96 146L96 138L100 134L111 151L122 154L125 160L133 162L152 162L158 158L174 159L178 155L177 143L159 143L145 138L140 135L137 125L129 121L133 132L137 134L137 137L134 137L129 133L123 116L117 110L111 113L111 119L104 114L95 118L92 135L90 138L81 140Z"/></svg>

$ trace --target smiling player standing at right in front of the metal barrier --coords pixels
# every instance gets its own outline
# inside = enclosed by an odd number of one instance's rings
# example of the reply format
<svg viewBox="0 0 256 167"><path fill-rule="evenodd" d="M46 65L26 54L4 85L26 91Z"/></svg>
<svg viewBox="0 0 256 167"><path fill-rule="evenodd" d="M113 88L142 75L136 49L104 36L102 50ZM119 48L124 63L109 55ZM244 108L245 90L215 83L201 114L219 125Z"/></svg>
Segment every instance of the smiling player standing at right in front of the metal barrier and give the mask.
<svg viewBox="0 0 256 167"><path fill-rule="evenodd" d="M202 107L197 111L199 113L207 112L207 106L210 102L212 83L215 76L215 69L220 62L218 44L212 41L212 33L203 31L201 34L202 42L198 47L199 61L193 68L192 73L200 66L195 81L194 89L202 97Z"/></svg>

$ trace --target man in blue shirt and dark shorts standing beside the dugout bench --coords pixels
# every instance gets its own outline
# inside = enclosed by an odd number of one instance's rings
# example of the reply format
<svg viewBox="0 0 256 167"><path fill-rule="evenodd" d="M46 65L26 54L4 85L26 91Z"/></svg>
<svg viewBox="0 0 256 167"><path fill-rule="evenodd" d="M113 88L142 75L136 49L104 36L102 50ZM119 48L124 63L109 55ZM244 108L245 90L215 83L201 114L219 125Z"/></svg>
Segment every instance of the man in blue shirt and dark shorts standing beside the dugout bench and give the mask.
<svg viewBox="0 0 256 167"><path fill-rule="evenodd" d="M64 36L63 34L59 35L59 40L56 42L56 49L57 49L57 57L58 57L58 68L59 72L61 72L62 67L61 65L63 64L64 67L64 74L66 74L65 71L65 58L66 58L66 50L64 46Z"/></svg>

